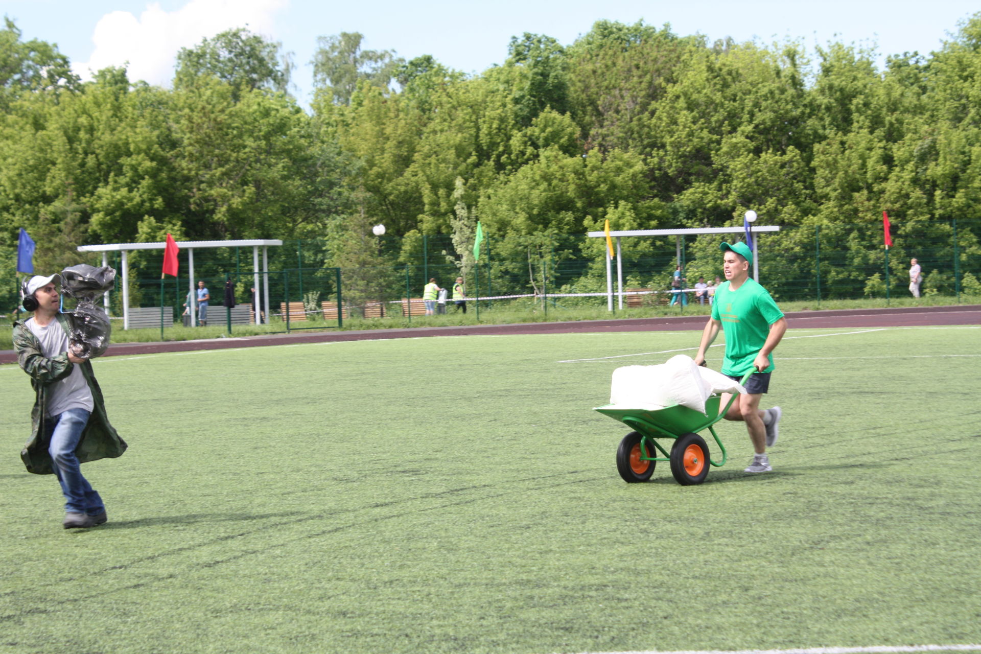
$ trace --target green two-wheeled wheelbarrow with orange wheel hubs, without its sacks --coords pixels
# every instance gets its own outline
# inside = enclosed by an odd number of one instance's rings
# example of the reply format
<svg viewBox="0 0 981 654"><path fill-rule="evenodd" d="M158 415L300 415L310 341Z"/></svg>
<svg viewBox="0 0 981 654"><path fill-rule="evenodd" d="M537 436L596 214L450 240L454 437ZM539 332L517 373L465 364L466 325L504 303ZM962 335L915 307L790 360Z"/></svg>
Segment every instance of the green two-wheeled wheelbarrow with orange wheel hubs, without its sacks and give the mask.
<svg viewBox="0 0 981 654"><path fill-rule="evenodd" d="M740 383L745 384L754 372L755 369L750 370ZM631 409L606 404L596 407L594 411L634 429L623 437L616 451L616 469L624 481L627 483L646 481L654 474L654 466L658 461L667 461L671 465L671 475L678 483L690 486L705 480L709 464L720 467L726 463L726 448L712 426L726 415L729 407L736 400L736 394L733 394L725 408L719 411L721 400L721 395L710 395L705 400L707 415L679 404L656 410ZM722 461L718 463L711 460L705 439L697 433L705 428L711 432L722 452ZM658 438L674 440L670 453L657 441Z"/></svg>

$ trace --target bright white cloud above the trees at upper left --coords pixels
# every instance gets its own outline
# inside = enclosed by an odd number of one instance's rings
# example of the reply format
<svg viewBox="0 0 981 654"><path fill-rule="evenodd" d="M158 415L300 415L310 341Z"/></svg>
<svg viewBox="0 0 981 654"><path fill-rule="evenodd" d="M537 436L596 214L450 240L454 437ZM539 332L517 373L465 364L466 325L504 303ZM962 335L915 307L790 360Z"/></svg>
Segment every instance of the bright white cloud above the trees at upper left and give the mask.
<svg viewBox="0 0 981 654"><path fill-rule="evenodd" d="M129 62L130 80L168 85L181 48L234 27L247 26L272 36L274 15L286 4L287 0L190 0L173 12L148 3L138 19L129 12L112 12L95 25L95 49L89 60L73 64L72 69L82 79L90 79L107 66Z"/></svg>

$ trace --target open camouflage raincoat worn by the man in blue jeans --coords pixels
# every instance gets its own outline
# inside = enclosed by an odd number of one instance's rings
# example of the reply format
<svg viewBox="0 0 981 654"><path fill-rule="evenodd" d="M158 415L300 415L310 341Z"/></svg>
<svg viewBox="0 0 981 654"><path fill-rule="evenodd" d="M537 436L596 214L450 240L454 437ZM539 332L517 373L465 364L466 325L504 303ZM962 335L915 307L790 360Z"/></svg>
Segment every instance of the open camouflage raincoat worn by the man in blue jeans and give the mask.
<svg viewBox="0 0 981 654"><path fill-rule="evenodd" d="M68 333L71 327L72 314L57 314L55 318ZM85 426L81 439L78 441L76 449L78 462L85 463L97 459L115 458L126 451L126 442L120 438L106 417L105 401L102 398L99 383L95 380L95 374L92 372L91 362L73 364L68 360L67 352L63 352L57 357L45 357L41 352L41 342L26 327L24 322L14 323L14 349L17 350L17 361L24 372L30 376L30 383L36 393L34 408L30 412L30 439L27 440L21 451L21 459L24 461L28 473L35 475L54 474L51 467L51 456L48 454L48 439L44 435L45 423L51 420L44 415L44 405L47 401L46 391L50 382L58 381L71 374L75 365L81 366L81 373L88 383L89 390L92 391L92 403L94 405L92 415L88 419L88 425Z"/></svg>

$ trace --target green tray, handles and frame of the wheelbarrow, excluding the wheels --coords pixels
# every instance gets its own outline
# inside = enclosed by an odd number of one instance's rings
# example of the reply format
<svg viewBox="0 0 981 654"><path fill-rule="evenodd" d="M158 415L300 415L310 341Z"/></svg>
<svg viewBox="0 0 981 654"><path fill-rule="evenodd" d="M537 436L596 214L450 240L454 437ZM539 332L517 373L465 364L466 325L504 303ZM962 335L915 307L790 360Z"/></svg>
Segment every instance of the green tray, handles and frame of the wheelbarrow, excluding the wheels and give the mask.
<svg viewBox="0 0 981 654"><path fill-rule="evenodd" d="M752 369L743 376L740 383L745 384L749 379L749 376L755 373L756 370ZM736 401L736 397L739 393L733 393L729 402L726 403L725 408L719 411L719 404L722 401L721 395L710 395L708 399L705 400L705 413L702 414L695 409L689 407L683 407L680 404L673 404L669 407L664 407L663 409L614 409L610 408L615 405L606 404L601 407L594 408L594 411L601 413L604 416L609 416L610 418L619 421L629 428L634 429L641 434L641 460L642 461L671 461L671 455L666 449L664 449L657 438L671 438L677 440L686 433L697 433L702 429L708 429L712 434L712 438L715 439L715 443L719 446L719 450L722 452L722 461L716 462L709 457L708 463L716 468L724 466L729 458L726 453L726 446L722 444L722 439L719 438L719 434L715 433L715 429L712 427L720 420L725 418L725 415L729 412L729 408L732 406L733 402ZM646 450L644 449L646 445ZM653 447L651 447L653 446ZM653 453L656 449L663 456L645 456L646 452Z"/></svg>

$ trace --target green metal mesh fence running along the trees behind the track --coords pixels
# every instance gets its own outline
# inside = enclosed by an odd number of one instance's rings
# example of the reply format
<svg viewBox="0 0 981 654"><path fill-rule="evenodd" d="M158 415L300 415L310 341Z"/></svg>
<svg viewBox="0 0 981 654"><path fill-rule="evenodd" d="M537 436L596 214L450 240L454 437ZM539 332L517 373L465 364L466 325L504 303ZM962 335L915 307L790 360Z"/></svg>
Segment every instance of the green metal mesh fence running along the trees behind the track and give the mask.
<svg viewBox="0 0 981 654"><path fill-rule="evenodd" d="M838 299L889 301L908 297L909 260L915 257L925 277L924 295L948 296L957 301L962 296L977 298L981 296L979 234L981 221L901 222L893 226L893 247L887 253L882 224L878 222L785 226L778 232L758 236L759 280L782 301L815 305ZM683 237L676 243L674 237L625 237L624 287L667 292L679 262L685 268L689 287L697 277L721 277L718 245L725 239L722 235L699 235ZM328 266L331 244L325 239L284 240L282 247L269 249L269 269L273 272L269 274L268 320L283 330L339 327L345 318L397 317L411 321L424 313L422 292L430 278L449 289L456 277L464 277L469 297L495 298L479 305L468 302L468 309L475 314L501 306L542 310L546 306L542 302L544 295L549 296L547 306L553 310L605 307L603 296L568 296L605 292L601 240L582 234L560 235L526 246L518 240L497 239L490 232L480 263L474 266L468 261L464 266L448 236L423 236L411 244L396 236L383 236L380 265L343 269ZM197 278L205 281L218 301L229 278L236 302L247 303L256 273L250 255L250 250L241 252L234 247L201 250L195 253ZM161 283L156 272L161 269L162 256L162 251L155 250L130 253L129 304L171 307L174 323L180 324L189 280L168 277ZM110 256L109 265L118 269L118 259L118 254ZM398 263L381 265L387 261ZM0 301L10 311L18 298L15 284L7 285L9 288L0 290ZM566 296L558 297L560 294ZM522 295L532 297L499 299ZM110 313L114 316L122 315L120 296L118 291L110 294ZM298 302L304 304L305 320L298 320L294 311L283 310ZM325 318L332 314L324 313L324 302L336 302L342 307L336 319ZM451 299L446 308L450 312L458 310ZM166 327L166 315L164 323Z"/></svg>

